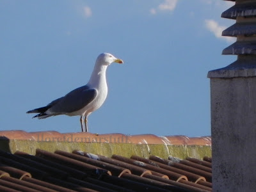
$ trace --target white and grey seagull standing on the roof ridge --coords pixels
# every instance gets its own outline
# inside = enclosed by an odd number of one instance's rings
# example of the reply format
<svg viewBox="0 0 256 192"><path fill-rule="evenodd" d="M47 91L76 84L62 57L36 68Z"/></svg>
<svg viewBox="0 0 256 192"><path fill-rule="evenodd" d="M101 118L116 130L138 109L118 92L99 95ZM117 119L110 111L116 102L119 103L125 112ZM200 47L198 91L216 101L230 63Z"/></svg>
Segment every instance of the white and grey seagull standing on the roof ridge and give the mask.
<svg viewBox="0 0 256 192"><path fill-rule="evenodd" d="M87 117L102 106L108 95L106 70L111 63L124 63L112 54L98 56L88 83L67 93L64 97L53 100L47 106L33 109L27 113L39 113L38 119L56 115L80 116L82 132L88 132Z"/></svg>

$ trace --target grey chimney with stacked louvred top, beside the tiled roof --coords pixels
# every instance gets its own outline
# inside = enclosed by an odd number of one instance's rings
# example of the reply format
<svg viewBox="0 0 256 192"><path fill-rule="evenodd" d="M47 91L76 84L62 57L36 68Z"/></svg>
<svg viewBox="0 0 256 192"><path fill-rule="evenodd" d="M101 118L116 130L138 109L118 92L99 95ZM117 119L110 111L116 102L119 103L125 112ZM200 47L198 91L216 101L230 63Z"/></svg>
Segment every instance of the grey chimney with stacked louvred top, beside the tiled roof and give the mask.
<svg viewBox="0 0 256 192"><path fill-rule="evenodd" d="M235 0L234 0L235 1ZM237 55L211 79L213 191L256 191L256 0L237 0L221 17L237 41L222 54Z"/></svg>

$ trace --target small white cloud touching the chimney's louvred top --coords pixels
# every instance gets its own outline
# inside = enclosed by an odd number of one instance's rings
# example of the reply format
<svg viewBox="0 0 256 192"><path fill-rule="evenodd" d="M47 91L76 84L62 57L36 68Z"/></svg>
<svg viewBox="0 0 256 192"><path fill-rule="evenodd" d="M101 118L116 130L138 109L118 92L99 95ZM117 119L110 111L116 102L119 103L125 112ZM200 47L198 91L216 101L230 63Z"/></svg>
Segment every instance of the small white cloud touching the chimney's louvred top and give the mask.
<svg viewBox="0 0 256 192"><path fill-rule="evenodd" d="M227 29L225 26L220 26L216 20L213 19L206 19L205 20L205 27L211 31L216 38L220 38L223 40L226 40L227 42L234 42L235 38L232 38L230 36L222 36L222 31Z"/></svg>

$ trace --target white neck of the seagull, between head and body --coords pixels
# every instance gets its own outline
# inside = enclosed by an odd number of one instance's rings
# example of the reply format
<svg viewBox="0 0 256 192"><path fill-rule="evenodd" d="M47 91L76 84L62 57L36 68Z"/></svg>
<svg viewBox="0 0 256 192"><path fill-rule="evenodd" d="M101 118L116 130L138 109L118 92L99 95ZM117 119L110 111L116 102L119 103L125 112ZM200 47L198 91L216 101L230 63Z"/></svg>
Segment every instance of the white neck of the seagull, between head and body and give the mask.
<svg viewBox="0 0 256 192"><path fill-rule="evenodd" d="M88 85L99 88L100 86L107 86L106 81L106 70L108 65L99 65L99 63L95 63L93 68L92 76L88 82Z"/></svg>

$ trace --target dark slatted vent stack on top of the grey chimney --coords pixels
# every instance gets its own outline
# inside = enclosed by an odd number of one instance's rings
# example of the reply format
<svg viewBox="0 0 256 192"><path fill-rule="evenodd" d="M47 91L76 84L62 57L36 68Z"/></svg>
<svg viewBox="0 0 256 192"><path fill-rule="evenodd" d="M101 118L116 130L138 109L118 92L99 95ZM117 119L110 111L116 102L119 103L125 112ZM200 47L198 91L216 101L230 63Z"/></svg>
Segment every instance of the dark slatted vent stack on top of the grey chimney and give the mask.
<svg viewBox="0 0 256 192"><path fill-rule="evenodd" d="M235 1L235 0L234 0ZM256 1L237 0L221 17L236 19L236 24L223 31L223 36L236 36L237 42L225 48L222 54L236 54L235 68L256 66ZM254 65L253 65L254 64ZM242 68L243 68L242 67Z"/></svg>

